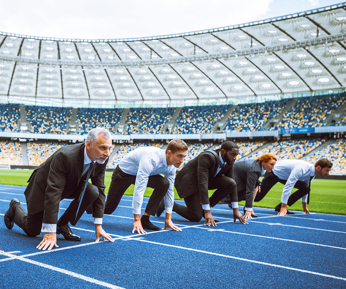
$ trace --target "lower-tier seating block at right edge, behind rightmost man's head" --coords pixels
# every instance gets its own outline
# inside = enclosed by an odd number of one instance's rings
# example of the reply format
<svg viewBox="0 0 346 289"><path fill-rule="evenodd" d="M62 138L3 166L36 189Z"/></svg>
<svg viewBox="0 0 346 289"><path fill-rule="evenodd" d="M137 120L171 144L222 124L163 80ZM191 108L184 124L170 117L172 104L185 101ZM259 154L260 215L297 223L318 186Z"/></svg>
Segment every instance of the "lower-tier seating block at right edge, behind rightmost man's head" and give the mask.
<svg viewBox="0 0 346 289"><path fill-rule="evenodd" d="M334 143L326 146L322 150L309 156L306 161L315 163L321 158L328 158L333 162L333 167L330 173L337 173L346 175L346 139L339 139Z"/></svg>

